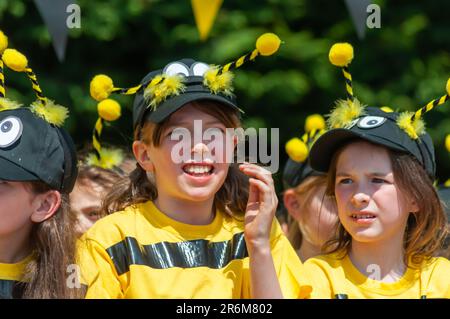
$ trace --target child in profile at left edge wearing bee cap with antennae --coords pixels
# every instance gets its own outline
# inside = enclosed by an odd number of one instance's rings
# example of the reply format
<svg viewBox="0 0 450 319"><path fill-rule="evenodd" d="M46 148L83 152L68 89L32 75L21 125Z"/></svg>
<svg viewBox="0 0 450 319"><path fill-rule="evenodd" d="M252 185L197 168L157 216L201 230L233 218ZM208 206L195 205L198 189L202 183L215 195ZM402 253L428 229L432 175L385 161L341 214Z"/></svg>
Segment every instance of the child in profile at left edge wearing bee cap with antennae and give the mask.
<svg viewBox="0 0 450 319"><path fill-rule="evenodd" d="M68 110L43 95L27 58L7 45L0 31L0 298L82 296L68 281L76 271L68 196L77 176L75 147L60 127ZM32 81L31 107L5 97L3 63Z"/></svg>

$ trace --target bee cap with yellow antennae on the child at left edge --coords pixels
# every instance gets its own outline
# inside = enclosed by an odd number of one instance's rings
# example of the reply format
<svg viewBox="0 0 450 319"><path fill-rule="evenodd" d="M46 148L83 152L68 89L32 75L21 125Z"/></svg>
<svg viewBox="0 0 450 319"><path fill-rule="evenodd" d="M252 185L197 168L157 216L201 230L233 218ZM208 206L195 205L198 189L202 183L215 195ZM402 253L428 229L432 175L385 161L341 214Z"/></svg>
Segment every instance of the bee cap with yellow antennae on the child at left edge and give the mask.
<svg viewBox="0 0 450 319"><path fill-rule="evenodd" d="M77 166L72 139L60 128L68 110L44 96L25 55L7 47L0 31L0 180L42 181L69 193ZM6 98L4 64L30 79L37 100L29 108Z"/></svg>

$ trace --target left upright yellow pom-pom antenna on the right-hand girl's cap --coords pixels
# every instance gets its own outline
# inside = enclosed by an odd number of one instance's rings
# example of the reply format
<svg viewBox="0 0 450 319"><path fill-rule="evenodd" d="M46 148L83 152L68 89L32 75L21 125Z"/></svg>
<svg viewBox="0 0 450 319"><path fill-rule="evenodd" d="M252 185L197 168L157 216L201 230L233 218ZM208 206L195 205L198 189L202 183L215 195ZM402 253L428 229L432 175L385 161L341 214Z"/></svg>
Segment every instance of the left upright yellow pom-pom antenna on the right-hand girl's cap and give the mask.
<svg viewBox="0 0 450 319"><path fill-rule="evenodd" d="M347 91L347 100L353 102L353 86L352 75L348 69L350 62L353 60L353 47L349 43L335 43L328 54L331 64L342 68L345 78L345 88Z"/></svg>

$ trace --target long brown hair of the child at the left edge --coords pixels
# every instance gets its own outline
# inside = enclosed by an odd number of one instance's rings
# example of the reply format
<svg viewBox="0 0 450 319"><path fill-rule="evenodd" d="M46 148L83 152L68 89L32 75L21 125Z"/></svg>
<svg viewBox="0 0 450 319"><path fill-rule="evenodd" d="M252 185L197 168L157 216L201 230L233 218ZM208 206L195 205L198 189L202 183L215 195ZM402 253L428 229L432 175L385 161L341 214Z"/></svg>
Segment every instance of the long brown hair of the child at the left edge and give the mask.
<svg viewBox="0 0 450 319"><path fill-rule="evenodd" d="M30 182L35 194L51 188L42 182ZM70 213L69 195L61 193L61 206L47 220L33 225L31 244L33 259L25 269L26 282L22 298L82 298L81 288L67 285L70 265L76 264L76 235L74 215Z"/></svg>

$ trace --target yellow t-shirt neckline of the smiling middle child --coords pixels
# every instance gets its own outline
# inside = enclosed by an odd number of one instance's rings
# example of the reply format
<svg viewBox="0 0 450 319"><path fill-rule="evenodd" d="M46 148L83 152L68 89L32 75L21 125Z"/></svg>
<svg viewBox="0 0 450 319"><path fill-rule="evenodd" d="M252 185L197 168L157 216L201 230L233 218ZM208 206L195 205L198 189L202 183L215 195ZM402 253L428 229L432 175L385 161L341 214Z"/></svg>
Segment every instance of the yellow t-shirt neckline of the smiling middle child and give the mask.
<svg viewBox="0 0 450 319"><path fill-rule="evenodd" d="M214 219L207 225L192 225L182 223L170 218L156 207L155 203L148 201L145 203L145 211L150 214L150 218L156 221L163 229L173 229L177 233L195 236L207 236L217 232L222 225L223 216L219 210L216 210Z"/></svg>

